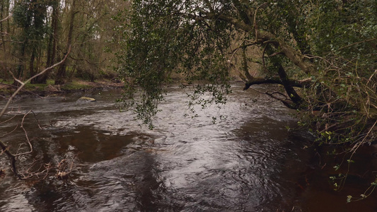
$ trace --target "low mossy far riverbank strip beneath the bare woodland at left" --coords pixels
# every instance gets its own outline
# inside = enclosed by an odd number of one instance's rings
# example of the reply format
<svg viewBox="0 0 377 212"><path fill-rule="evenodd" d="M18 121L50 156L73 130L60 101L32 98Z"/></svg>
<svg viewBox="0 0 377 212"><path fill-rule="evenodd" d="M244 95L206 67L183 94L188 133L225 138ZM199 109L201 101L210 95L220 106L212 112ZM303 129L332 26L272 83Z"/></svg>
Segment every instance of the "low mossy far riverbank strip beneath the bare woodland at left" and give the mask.
<svg viewBox="0 0 377 212"><path fill-rule="evenodd" d="M47 81L46 84L31 84L28 83L18 93L19 95L50 95L55 93L71 93L76 91L101 89L101 88L122 88L124 83L120 81L99 80L95 82L82 81L75 79L69 83L65 83L62 86L54 85L53 81ZM0 95L8 96L13 94L17 86L13 86L10 83L0 83Z"/></svg>

